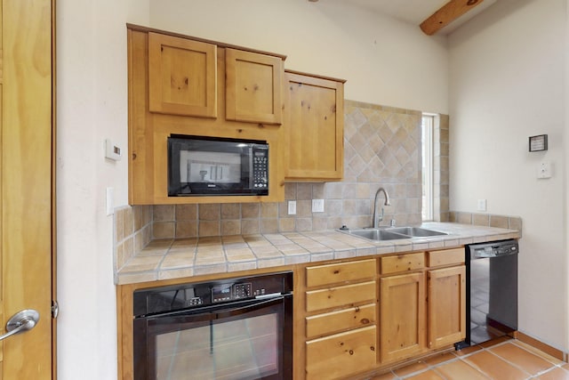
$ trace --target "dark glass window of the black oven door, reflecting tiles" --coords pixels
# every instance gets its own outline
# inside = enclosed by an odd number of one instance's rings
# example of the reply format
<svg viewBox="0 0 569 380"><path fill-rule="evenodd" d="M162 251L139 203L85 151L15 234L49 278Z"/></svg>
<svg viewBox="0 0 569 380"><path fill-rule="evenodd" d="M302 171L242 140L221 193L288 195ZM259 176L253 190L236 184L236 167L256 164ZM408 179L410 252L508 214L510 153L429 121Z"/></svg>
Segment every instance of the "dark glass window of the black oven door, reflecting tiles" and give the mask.
<svg viewBox="0 0 569 380"><path fill-rule="evenodd" d="M284 300L147 319L148 378L283 378Z"/></svg>

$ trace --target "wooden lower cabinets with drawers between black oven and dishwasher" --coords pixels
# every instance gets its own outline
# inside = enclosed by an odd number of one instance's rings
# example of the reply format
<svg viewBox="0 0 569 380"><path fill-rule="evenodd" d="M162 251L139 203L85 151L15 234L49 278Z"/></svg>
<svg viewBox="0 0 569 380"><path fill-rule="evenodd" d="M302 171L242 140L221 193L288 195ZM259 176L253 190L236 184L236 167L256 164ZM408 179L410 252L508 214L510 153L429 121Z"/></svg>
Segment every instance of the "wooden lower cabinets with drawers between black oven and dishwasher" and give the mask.
<svg viewBox="0 0 569 380"><path fill-rule="evenodd" d="M312 263L296 273L296 379L371 376L465 337L463 247Z"/></svg>

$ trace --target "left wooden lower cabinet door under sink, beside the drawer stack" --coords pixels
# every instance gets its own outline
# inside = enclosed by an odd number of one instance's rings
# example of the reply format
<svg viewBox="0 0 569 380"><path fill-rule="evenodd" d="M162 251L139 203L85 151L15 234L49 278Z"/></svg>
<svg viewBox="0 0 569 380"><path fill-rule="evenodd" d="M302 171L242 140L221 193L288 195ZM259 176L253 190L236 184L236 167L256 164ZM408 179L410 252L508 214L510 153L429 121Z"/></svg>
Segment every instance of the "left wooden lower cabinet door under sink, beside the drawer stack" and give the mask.
<svg viewBox="0 0 569 380"><path fill-rule="evenodd" d="M425 348L425 274L380 279L381 362L401 360Z"/></svg>

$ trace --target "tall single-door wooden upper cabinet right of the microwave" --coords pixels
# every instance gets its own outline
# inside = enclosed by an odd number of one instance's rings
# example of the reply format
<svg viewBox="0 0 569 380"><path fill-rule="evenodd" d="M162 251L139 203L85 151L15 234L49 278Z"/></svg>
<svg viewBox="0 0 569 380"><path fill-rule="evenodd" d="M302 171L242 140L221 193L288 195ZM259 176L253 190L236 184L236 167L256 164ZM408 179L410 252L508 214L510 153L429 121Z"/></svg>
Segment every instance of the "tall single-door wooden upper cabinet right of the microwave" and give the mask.
<svg viewBox="0 0 569 380"><path fill-rule="evenodd" d="M343 83L285 73L285 180L341 180Z"/></svg>

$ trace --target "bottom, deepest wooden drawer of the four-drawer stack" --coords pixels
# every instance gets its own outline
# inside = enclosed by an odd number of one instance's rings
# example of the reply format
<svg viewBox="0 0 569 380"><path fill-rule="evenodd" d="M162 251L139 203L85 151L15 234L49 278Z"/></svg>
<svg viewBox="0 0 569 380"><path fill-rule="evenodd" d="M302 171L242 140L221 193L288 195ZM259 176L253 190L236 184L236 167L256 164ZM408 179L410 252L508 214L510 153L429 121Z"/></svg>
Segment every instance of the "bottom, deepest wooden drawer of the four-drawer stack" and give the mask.
<svg viewBox="0 0 569 380"><path fill-rule="evenodd" d="M375 326L307 342L307 380L353 376L375 367L376 342Z"/></svg>

